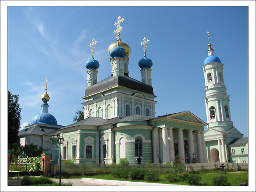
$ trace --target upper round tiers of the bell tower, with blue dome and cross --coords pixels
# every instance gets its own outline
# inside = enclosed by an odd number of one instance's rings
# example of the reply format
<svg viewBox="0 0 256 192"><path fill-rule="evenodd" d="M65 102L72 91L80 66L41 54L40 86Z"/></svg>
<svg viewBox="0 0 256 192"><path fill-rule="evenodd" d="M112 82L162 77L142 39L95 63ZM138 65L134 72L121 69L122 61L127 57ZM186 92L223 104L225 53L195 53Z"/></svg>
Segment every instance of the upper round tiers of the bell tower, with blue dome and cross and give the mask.
<svg viewBox="0 0 256 192"><path fill-rule="evenodd" d="M223 63L213 55L212 44L208 34L208 57L202 66L204 71L206 97L207 128L214 128L218 131L227 131L233 126L230 115L229 96L226 93L226 86L223 76Z"/></svg>

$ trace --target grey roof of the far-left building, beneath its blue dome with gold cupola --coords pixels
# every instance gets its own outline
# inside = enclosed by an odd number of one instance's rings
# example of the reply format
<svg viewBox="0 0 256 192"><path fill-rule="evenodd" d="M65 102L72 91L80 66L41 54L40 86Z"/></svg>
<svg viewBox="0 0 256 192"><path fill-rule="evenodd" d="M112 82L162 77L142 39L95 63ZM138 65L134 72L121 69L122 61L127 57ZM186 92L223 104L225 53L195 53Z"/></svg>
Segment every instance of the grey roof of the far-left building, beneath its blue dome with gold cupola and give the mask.
<svg viewBox="0 0 256 192"><path fill-rule="evenodd" d="M18 136L22 136L22 135L44 135L46 133L50 133L52 131L55 131L59 129L59 127L47 127L47 126L40 126L35 124L32 127L28 127L25 129L22 129L18 132Z"/></svg>

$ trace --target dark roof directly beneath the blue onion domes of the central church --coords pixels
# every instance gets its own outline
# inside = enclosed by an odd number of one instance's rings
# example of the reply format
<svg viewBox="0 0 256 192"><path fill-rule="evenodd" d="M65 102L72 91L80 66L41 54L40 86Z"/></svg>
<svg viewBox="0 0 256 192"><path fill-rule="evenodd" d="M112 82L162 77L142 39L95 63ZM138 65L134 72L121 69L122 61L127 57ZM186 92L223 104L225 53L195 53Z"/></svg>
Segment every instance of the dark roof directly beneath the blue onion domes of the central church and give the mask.
<svg viewBox="0 0 256 192"><path fill-rule="evenodd" d="M134 78L130 78L129 76L110 76L96 84L86 88L85 96L100 92L102 90L106 90L112 88L114 86L123 86L126 88L134 89L140 92L148 93L154 95L153 88L150 85L146 85Z"/></svg>

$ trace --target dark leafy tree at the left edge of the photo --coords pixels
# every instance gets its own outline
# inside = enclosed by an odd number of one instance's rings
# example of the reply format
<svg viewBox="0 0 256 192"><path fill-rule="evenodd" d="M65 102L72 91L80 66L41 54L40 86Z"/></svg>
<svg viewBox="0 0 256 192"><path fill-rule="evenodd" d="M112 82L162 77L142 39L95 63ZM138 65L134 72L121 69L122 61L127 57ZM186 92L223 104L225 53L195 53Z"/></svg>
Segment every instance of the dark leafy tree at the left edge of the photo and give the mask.
<svg viewBox="0 0 256 192"><path fill-rule="evenodd" d="M12 95L8 90L8 143L20 143L18 132L20 129L20 104L19 95Z"/></svg>

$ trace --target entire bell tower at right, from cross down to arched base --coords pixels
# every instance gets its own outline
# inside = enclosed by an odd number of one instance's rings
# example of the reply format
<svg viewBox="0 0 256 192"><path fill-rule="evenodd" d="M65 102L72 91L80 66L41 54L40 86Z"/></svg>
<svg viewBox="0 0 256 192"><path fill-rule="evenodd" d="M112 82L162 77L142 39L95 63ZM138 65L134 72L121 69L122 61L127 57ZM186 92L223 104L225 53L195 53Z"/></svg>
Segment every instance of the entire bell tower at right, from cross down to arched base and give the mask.
<svg viewBox="0 0 256 192"><path fill-rule="evenodd" d="M207 161L232 163L234 159L232 157L234 156L230 157L232 154L228 145L233 146L231 144L242 138L243 134L234 127L231 120L229 96L226 93L224 83L223 63L213 55L209 32L207 33L209 39L208 57L206 57L202 66L205 79L206 97L204 97L204 100L208 124L204 133ZM245 163L248 163L248 161Z"/></svg>

